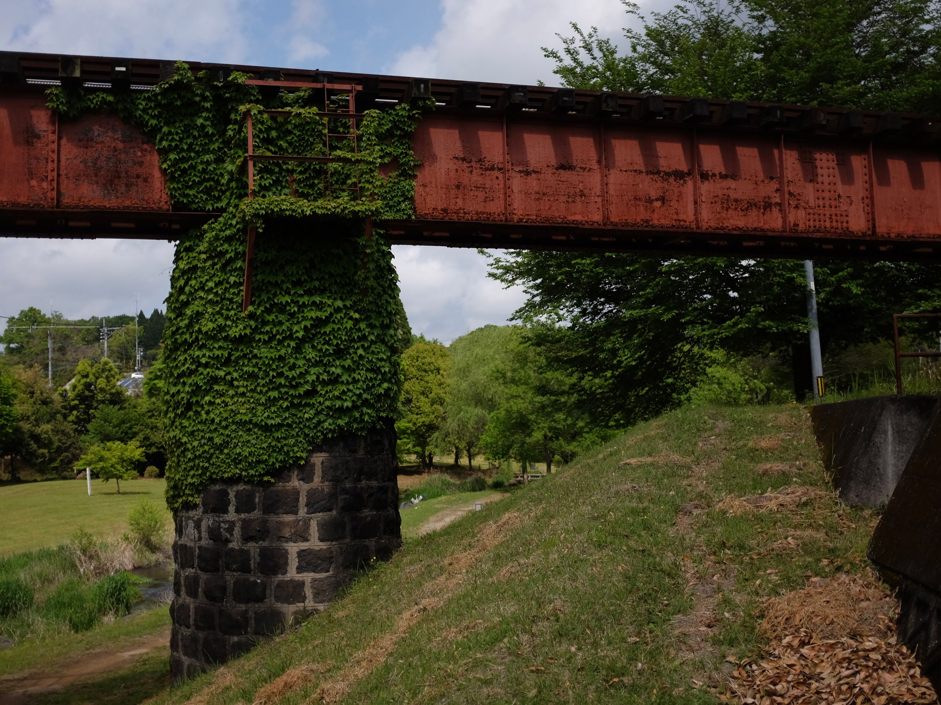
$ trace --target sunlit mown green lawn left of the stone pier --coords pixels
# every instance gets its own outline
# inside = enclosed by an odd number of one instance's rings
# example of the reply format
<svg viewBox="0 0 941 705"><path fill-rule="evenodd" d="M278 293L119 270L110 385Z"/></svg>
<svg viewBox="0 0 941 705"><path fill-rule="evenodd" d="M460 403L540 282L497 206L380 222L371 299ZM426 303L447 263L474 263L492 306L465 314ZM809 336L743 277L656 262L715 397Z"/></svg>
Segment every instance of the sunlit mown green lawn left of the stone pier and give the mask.
<svg viewBox="0 0 941 705"><path fill-rule="evenodd" d="M89 497L85 480L0 484L0 556L56 546L79 527L100 538L116 536L142 497L166 508L165 486L162 479L136 479L121 482L119 494L114 481L93 479Z"/></svg>

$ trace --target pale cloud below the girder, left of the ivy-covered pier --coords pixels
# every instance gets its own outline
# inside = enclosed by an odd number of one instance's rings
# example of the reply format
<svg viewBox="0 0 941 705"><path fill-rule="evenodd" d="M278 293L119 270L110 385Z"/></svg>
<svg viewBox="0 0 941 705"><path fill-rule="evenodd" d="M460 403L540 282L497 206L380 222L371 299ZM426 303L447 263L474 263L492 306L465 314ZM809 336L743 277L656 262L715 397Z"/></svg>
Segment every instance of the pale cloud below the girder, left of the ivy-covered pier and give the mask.
<svg viewBox="0 0 941 705"><path fill-rule="evenodd" d="M0 238L0 315L27 306L66 318L164 309L173 244L148 240ZM5 327L0 320L0 329Z"/></svg>

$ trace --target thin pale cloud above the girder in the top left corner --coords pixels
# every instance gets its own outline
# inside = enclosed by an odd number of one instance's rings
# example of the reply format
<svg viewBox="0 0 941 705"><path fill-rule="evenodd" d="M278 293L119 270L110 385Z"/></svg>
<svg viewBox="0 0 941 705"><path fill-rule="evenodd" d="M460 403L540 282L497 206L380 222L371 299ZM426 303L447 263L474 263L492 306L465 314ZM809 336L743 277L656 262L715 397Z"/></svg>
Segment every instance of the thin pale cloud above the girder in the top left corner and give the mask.
<svg viewBox="0 0 941 705"><path fill-rule="evenodd" d="M235 62L247 55L244 4L244 0L3 0L0 47Z"/></svg>

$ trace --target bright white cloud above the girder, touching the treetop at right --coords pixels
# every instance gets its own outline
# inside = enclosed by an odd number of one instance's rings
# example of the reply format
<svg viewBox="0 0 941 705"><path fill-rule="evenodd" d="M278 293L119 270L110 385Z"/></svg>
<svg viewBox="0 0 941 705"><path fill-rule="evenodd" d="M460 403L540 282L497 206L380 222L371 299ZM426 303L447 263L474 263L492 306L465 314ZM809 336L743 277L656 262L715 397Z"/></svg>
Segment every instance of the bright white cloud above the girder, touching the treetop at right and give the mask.
<svg viewBox="0 0 941 705"><path fill-rule="evenodd" d="M441 0L441 26L391 62L391 73L494 83L556 83L541 47L559 47L569 23L619 39L627 24L617 0Z"/></svg>

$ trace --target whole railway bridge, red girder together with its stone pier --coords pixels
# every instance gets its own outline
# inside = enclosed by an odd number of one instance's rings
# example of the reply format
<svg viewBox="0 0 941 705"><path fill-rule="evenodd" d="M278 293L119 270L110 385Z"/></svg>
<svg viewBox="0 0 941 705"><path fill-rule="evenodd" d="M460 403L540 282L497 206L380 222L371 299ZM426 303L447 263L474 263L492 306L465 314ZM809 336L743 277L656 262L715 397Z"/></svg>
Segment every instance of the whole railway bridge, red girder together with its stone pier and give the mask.
<svg viewBox="0 0 941 705"><path fill-rule="evenodd" d="M229 148L246 165L233 173L248 199L262 193L256 180L270 176L269 163L293 162L346 168L335 188L346 190L346 201L369 205L367 182L359 171L349 176L350 164L360 164L360 121L421 106L408 138L417 165L407 213L383 217L354 203L345 225L313 211L265 224L263 217L226 220L222 208L174 197L172 155L120 109L104 108L159 93L181 71L193 77L187 86L205 86L206 100L215 100L212 86L256 89L257 105L233 127ZM51 87L120 101L69 116L50 106ZM326 119L326 151L254 149L261 143L252 119L257 128L258 120L290 117L283 104L299 91ZM341 132L330 133L338 122ZM199 131L194 125L187 129ZM390 321L380 315L395 293L389 244L934 259L941 255L939 146L941 122L919 115L0 54L0 236L181 243L168 300L165 387L172 481L180 488L171 503L175 678L225 661L294 614L329 603L359 565L388 558L401 542L389 420L396 384L383 383L397 371L391 338L383 337ZM390 160L379 172L386 178L399 166ZM334 192L328 178L322 183L320 197L328 200ZM295 174L279 188L282 198L297 196ZM206 228L223 222L228 234L213 240ZM380 241L372 240L373 227ZM330 238L338 231L343 243L359 244L336 244ZM324 249L327 242L332 249ZM341 256L356 266L325 279L324 268L337 266L325 260ZM280 270L294 277L290 286ZM341 281L366 270L368 286ZM308 314L294 342L266 333L273 321ZM378 322L368 330L351 322L370 316ZM174 318L198 321L198 332L184 335ZM327 339L328 353L304 357ZM192 351L205 353L202 364L187 357ZM205 361L218 366L215 376ZM290 386L281 386L285 379ZM370 413L350 412L350 399L331 401L344 384ZM190 436L205 445L188 446Z"/></svg>

